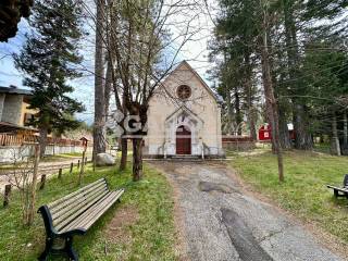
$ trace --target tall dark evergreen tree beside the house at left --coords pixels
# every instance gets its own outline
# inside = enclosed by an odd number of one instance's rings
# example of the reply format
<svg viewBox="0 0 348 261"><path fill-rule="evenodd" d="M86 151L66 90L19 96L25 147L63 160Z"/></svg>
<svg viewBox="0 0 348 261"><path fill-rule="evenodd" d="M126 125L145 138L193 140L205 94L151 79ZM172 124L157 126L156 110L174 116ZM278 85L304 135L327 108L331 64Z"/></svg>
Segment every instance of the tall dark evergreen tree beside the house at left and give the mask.
<svg viewBox="0 0 348 261"><path fill-rule="evenodd" d="M78 40L82 36L80 7L74 0L41 0L33 8L30 25L35 33L26 36L15 65L26 74L24 85L33 90L30 109L37 109L33 124L40 129L41 156L48 132L63 133L76 128L75 112L84 110L80 102L69 97L73 87L66 82L80 76L76 64L82 62Z"/></svg>

